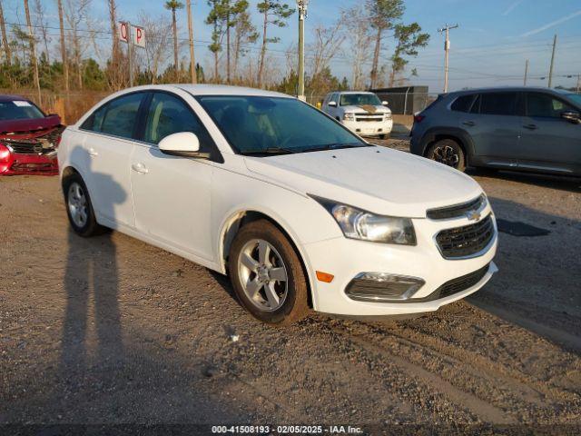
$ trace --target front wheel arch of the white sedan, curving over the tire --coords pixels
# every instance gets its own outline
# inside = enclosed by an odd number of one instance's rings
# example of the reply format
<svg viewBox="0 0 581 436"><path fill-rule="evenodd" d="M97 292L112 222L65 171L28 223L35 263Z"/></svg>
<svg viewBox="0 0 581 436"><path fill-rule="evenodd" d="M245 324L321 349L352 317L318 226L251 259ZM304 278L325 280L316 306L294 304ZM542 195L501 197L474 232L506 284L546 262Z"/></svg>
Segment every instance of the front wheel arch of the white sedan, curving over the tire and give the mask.
<svg viewBox="0 0 581 436"><path fill-rule="evenodd" d="M258 208L242 209L240 211L231 213L228 219L222 223L222 228L220 232L220 247L219 247L219 263L222 268L222 272L226 273L228 270L228 255L231 249L231 243L234 237L239 232L241 227L245 224L252 223L261 219L267 220L272 223L277 229L281 231L282 234L289 240L292 248L295 250L299 256L300 263L302 265L303 272L307 278L307 291L308 291L308 303L309 307L313 308L313 276L310 272L309 259L306 253L301 250L300 243L298 243L298 237L294 235L286 223L282 223L280 217L274 217L274 213L269 211L261 211Z"/></svg>

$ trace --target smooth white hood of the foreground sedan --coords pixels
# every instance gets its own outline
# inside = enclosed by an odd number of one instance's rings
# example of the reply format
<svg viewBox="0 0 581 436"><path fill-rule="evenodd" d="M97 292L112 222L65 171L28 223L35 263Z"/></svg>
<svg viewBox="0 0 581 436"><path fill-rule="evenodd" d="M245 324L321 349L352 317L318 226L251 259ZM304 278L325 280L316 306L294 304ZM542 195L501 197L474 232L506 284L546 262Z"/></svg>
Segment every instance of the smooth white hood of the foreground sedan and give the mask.
<svg viewBox="0 0 581 436"><path fill-rule="evenodd" d="M427 209L463 203L482 193L464 173L384 147L245 156L244 161L267 182L392 216L425 218Z"/></svg>

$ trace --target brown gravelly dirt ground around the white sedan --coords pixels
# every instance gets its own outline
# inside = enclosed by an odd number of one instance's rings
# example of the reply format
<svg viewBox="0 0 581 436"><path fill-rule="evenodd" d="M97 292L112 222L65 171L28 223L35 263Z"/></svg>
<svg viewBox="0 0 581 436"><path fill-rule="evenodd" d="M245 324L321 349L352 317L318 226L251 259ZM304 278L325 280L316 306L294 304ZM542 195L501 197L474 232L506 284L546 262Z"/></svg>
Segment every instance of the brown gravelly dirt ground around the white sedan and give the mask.
<svg viewBox="0 0 581 436"><path fill-rule="evenodd" d="M121 233L75 236L57 178L0 179L0 422L578 434L581 182L474 176L499 218L550 233L501 233L497 276L439 312L283 330L201 266Z"/></svg>

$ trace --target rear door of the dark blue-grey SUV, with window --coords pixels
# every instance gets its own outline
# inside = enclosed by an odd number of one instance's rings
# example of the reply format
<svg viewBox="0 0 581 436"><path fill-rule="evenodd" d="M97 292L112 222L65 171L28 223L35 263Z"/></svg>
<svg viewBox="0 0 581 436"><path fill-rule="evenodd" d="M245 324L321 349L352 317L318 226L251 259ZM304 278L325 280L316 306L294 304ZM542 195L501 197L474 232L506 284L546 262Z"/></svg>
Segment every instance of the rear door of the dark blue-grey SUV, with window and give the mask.
<svg viewBox="0 0 581 436"><path fill-rule="evenodd" d="M517 164L522 125L520 93L480 93L469 112L460 114L458 126L472 138L479 159L497 166Z"/></svg>

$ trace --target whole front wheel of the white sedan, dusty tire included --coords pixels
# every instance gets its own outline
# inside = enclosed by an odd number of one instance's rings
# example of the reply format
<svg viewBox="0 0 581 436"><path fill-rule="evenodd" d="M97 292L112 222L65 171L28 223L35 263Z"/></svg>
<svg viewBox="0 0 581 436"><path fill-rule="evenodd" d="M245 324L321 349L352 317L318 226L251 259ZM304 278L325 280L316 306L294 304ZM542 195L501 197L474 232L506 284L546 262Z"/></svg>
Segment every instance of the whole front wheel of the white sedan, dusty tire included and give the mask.
<svg viewBox="0 0 581 436"><path fill-rule="evenodd" d="M300 258L270 221L241 227L231 245L229 269L241 305L261 322L289 325L309 313Z"/></svg>

